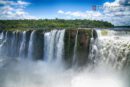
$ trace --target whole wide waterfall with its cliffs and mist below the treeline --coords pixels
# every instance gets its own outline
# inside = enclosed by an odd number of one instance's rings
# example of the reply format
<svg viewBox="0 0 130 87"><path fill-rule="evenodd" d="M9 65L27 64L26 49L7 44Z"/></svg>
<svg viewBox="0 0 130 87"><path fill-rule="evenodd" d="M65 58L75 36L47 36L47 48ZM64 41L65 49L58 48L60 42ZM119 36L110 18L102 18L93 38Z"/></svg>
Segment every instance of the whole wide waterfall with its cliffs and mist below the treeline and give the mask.
<svg viewBox="0 0 130 87"><path fill-rule="evenodd" d="M129 62L129 31L0 31L0 87L129 87Z"/></svg>

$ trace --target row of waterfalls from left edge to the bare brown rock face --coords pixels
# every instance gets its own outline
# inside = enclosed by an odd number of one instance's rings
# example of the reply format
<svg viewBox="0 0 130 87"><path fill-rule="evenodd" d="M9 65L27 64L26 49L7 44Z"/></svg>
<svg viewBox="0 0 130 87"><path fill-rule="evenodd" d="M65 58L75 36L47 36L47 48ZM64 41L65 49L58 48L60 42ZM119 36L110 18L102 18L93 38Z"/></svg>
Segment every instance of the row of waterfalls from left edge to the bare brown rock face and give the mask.
<svg viewBox="0 0 130 87"><path fill-rule="evenodd" d="M60 63L64 56L64 34L65 30L45 32L44 37L42 36L43 32L40 35L39 31L35 30L1 32L0 54L21 59L26 57L28 59L40 59L38 57L43 56L46 62Z"/></svg>

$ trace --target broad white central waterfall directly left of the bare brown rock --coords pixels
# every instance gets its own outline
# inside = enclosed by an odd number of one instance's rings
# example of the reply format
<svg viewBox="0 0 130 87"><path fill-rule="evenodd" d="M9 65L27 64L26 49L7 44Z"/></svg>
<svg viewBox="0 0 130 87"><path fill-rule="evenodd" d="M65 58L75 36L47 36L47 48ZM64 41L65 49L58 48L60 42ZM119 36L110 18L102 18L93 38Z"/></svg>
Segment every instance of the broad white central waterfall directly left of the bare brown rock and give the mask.
<svg viewBox="0 0 130 87"><path fill-rule="evenodd" d="M61 61L64 50L65 30L53 30L44 34L44 59L48 62Z"/></svg>

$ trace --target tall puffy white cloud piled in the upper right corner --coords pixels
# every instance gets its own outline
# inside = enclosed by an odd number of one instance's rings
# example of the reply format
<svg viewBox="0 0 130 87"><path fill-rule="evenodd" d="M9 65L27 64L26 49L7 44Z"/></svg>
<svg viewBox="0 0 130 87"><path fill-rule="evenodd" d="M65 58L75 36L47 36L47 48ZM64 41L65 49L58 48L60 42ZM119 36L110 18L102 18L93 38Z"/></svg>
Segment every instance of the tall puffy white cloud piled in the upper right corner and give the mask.
<svg viewBox="0 0 130 87"><path fill-rule="evenodd" d="M115 25L130 25L130 6L129 0L115 0L114 2L104 3L104 16L107 21ZM109 15L109 16L107 16Z"/></svg>

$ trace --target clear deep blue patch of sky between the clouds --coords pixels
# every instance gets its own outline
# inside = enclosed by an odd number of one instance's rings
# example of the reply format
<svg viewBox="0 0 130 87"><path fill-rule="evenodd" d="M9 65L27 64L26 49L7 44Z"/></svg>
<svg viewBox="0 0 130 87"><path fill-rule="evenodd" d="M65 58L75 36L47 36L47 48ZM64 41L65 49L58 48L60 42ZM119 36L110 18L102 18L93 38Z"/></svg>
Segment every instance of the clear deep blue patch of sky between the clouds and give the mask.
<svg viewBox="0 0 130 87"><path fill-rule="evenodd" d="M86 11L91 10L93 5L102 5L104 2L113 0L27 0L31 2L27 11L42 18L59 17L58 10Z"/></svg>

